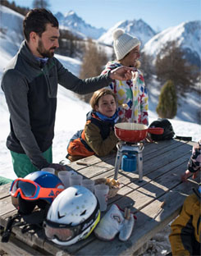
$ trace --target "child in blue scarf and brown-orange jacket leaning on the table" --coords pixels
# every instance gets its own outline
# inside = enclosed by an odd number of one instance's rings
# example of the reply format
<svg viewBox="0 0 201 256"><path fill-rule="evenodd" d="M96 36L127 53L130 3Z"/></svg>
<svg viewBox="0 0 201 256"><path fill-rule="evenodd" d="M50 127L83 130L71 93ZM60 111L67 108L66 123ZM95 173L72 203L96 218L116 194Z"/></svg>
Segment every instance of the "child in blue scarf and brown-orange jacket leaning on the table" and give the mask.
<svg viewBox="0 0 201 256"><path fill-rule="evenodd" d="M94 92L90 104L92 110L87 113L84 130L78 130L67 146L67 156L71 162L91 155L106 156L116 148L118 139L114 125L118 120L116 96L110 89Z"/></svg>

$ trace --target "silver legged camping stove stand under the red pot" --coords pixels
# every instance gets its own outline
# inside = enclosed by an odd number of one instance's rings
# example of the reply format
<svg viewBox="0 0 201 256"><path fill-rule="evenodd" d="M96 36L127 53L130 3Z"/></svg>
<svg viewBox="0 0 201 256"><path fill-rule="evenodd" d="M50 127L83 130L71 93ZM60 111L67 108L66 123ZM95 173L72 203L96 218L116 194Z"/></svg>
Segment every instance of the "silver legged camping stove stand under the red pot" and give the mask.
<svg viewBox="0 0 201 256"><path fill-rule="evenodd" d="M120 140L116 144L117 153L116 153L116 161L115 161L115 175L114 179L117 180L118 171L121 164L121 158L123 153L135 153L138 162L138 173L139 173L139 181L143 181L143 149L144 149L144 142L140 141L137 143L129 143Z"/></svg>

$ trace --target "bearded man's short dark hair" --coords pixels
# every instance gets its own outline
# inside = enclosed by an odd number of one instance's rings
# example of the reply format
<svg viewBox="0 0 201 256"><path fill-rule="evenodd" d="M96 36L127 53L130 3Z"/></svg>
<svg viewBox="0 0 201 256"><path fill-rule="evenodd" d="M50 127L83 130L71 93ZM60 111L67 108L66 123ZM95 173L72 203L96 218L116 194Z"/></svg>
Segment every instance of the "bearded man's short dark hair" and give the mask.
<svg viewBox="0 0 201 256"><path fill-rule="evenodd" d="M27 42L30 41L30 33L35 32L41 34L46 30L46 25L51 24L53 27L58 28L58 21L51 11L43 8L36 8L30 10L23 21L23 32Z"/></svg>

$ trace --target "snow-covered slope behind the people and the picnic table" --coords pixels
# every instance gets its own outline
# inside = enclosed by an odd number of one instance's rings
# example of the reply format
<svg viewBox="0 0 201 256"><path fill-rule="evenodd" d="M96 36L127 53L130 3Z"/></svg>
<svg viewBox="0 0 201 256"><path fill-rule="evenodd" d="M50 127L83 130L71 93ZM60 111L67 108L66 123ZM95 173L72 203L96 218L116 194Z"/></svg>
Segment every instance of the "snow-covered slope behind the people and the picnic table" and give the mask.
<svg viewBox="0 0 201 256"><path fill-rule="evenodd" d="M1 9L2 11L2 9ZM14 19L12 16L16 16L16 13L7 9L6 11L9 19ZM15 23L16 24L16 23ZM15 26L11 25L12 30L15 30ZM7 26L7 31L10 30ZM8 31L8 34L10 32ZM3 40L9 41L9 36L5 35ZM7 39L6 39L7 38ZM6 42L6 41L5 41ZM7 62L16 53L15 43L9 44L4 43L2 47L2 38L0 42L0 80L2 77L2 67L7 66ZM13 48L11 48L11 45ZM15 49L14 49L15 48ZM13 51L13 55L11 52ZM70 57L63 57L55 55L64 66L66 66L69 71L75 75L79 74L81 62ZM148 85L149 89L149 122L156 120L158 118L155 107L158 103L158 89L157 82L153 80L151 84ZM189 94L188 102L181 101L180 107L177 112L177 116L174 120L171 120L172 126L176 132L176 135L192 136L193 140L196 141L200 138L201 130L200 126L196 124L196 120L192 113L195 109L198 109L199 98L198 95ZM85 115L89 112L90 106L87 103L83 103L79 98L76 97L71 91L59 86L57 94L57 118L55 126L55 138L53 140L53 161L59 162L66 156L66 146L74 135L76 130L80 130L85 126ZM9 131L9 113L7 110L7 104L0 89L0 176L15 178L15 174L11 167L11 156L9 150L6 148L6 139Z"/></svg>

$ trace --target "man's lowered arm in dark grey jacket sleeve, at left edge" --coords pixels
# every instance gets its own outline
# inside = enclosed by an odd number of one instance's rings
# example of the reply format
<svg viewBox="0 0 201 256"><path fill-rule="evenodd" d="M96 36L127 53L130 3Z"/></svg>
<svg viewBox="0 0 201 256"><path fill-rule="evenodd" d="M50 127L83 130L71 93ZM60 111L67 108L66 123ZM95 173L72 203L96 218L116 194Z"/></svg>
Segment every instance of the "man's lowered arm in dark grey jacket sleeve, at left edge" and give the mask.
<svg viewBox="0 0 201 256"><path fill-rule="evenodd" d="M18 71L9 70L2 78L7 106L11 114L11 123L16 138L30 161L39 170L48 167L49 163L43 158L30 126L30 113L28 108L27 93L28 85Z"/></svg>

